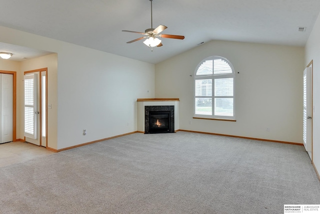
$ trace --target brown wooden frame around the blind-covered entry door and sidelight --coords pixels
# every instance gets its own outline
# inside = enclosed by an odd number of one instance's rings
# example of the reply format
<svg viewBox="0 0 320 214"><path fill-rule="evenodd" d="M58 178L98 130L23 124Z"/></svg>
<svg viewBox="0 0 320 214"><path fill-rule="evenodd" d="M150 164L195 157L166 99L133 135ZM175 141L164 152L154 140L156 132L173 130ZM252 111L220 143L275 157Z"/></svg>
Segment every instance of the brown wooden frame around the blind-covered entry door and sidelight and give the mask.
<svg viewBox="0 0 320 214"><path fill-rule="evenodd" d="M45 148L48 147L48 68L40 68L40 69L35 69L35 70L31 70L31 71L24 71L23 72L23 76L26 75L26 74L30 74L30 73L36 73L36 72L39 72L39 77L40 77L40 81L39 81L39 88L40 88L40 97L39 97L39 107L38 109L39 110L39 142L40 142L40 145L42 145L42 96L41 96L41 93L42 93L42 83L41 83L41 72L45 72ZM23 124L24 124L24 119L23 119ZM25 136L23 136L23 139L25 141Z"/></svg>

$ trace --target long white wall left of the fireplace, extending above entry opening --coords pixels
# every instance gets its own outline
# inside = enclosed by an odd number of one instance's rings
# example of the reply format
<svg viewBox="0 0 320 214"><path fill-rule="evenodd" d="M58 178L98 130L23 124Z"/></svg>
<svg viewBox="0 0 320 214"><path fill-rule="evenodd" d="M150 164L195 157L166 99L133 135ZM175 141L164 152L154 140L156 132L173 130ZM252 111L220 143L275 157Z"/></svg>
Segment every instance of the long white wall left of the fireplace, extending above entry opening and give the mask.
<svg viewBox="0 0 320 214"><path fill-rule="evenodd" d="M136 131L135 101L154 97L154 65L5 27L0 32L0 42L57 53L52 148Z"/></svg>

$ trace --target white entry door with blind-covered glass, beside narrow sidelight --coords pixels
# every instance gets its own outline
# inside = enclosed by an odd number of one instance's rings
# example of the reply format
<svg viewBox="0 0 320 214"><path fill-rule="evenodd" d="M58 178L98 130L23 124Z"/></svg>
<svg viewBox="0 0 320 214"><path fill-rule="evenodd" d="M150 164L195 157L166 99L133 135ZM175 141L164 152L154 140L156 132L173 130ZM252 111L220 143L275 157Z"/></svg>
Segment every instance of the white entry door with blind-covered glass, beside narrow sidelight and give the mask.
<svg viewBox="0 0 320 214"><path fill-rule="evenodd" d="M25 141L39 146L38 83L38 75L36 73L24 75L24 137Z"/></svg>

